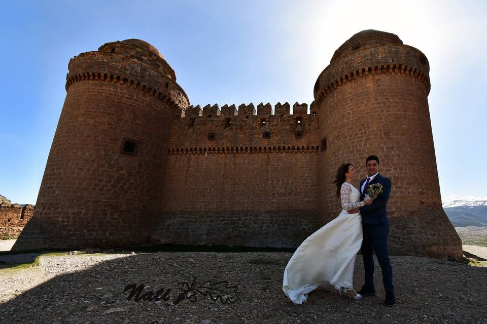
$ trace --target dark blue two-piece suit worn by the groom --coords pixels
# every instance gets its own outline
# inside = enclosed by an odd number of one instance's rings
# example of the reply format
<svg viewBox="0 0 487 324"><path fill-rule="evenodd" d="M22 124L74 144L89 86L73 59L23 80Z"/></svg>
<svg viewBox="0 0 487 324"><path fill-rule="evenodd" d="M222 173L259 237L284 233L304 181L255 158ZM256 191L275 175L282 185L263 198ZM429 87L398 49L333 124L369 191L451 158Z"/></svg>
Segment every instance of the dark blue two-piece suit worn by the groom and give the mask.
<svg viewBox="0 0 487 324"><path fill-rule="evenodd" d="M360 189L367 178L360 182ZM373 201L372 205L363 206L359 208L362 215L362 228L364 232L364 239L362 241L362 258L364 260L365 268L365 286L374 287L374 259L373 252L377 256L380 269L382 270L382 282L384 282L384 289L389 292L394 292L392 284L392 265L388 254L388 235L389 235L389 218L387 215L386 205L389 196L391 195L391 180L377 174L375 178L370 181L367 186L374 183L382 184L384 192L379 194ZM364 198L364 188L360 193L361 198Z"/></svg>

